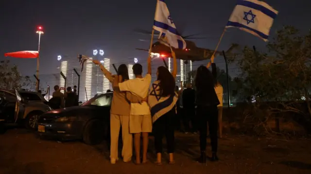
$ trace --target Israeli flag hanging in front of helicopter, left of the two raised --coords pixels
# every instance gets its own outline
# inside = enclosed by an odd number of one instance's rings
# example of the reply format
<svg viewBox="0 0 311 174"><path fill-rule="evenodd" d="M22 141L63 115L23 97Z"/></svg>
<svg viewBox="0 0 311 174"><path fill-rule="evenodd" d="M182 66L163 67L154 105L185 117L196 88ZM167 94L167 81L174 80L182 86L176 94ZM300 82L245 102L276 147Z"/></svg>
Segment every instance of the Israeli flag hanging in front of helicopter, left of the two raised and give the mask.
<svg viewBox="0 0 311 174"><path fill-rule="evenodd" d="M160 32L160 37L166 37L168 44L172 47L179 49L186 48L186 42L177 32L174 21L164 0L157 0L154 29Z"/></svg>

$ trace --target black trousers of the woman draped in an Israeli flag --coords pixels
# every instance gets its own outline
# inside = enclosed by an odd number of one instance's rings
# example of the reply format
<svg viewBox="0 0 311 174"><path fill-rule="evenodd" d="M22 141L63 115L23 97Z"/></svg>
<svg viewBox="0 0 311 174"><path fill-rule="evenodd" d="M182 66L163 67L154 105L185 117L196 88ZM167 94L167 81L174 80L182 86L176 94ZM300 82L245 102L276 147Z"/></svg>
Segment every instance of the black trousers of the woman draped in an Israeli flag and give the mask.
<svg viewBox="0 0 311 174"><path fill-rule="evenodd" d="M174 152L174 116L175 108L158 118L153 125L156 153L162 153L164 135L166 138L167 153Z"/></svg>

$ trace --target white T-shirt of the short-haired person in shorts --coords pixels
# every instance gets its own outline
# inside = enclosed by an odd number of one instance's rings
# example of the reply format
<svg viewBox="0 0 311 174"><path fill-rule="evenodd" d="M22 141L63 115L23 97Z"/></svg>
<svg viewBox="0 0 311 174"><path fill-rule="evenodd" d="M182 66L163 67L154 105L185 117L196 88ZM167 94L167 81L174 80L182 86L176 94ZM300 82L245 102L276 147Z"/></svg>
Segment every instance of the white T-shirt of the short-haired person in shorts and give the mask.
<svg viewBox="0 0 311 174"><path fill-rule="evenodd" d="M150 83L151 83L151 75L146 74L144 78L130 79L122 83L119 83L119 88L120 91L129 91L132 94L138 95L141 98L145 98L148 95ZM131 103L130 114L149 115L150 108L147 102L143 102L141 104Z"/></svg>

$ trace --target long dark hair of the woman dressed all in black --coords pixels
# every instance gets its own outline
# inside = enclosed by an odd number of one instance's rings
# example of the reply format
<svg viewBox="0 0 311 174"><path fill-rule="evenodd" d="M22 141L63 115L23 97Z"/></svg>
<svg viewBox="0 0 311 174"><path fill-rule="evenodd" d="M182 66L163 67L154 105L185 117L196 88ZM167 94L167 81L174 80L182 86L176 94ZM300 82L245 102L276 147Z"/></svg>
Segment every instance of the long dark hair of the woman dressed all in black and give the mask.
<svg viewBox="0 0 311 174"><path fill-rule="evenodd" d="M214 79L212 73L203 65L198 67L194 82L198 92L208 90L216 86L216 80Z"/></svg>

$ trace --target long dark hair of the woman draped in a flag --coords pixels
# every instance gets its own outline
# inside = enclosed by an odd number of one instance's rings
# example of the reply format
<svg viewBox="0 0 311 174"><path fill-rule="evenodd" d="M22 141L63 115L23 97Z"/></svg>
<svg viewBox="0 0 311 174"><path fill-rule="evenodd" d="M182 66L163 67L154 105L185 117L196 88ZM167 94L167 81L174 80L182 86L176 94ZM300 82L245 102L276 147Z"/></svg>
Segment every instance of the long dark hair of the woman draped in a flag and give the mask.
<svg viewBox="0 0 311 174"><path fill-rule="evenodd" d="M169 96L175 94L175 79L170 71L164 67L159 66L157 68L158 76L157 80L159 80L160 87L160 95Z"/></svg>

